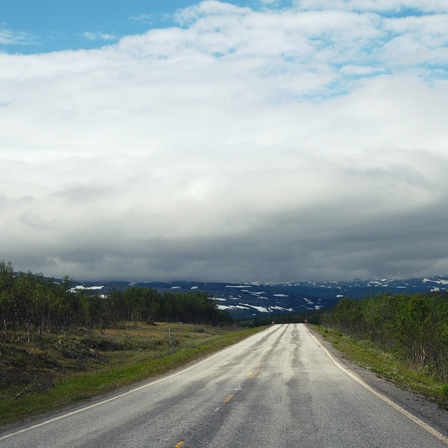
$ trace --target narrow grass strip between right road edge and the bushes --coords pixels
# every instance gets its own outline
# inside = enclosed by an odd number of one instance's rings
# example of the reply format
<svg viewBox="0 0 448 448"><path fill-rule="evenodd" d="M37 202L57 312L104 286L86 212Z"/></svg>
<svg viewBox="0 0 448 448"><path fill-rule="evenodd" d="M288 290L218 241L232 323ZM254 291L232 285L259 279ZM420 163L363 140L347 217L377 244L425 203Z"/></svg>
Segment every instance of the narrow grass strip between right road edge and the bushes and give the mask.
<svg viewBox="0 0 448 448"><path fill-rule="evenodd" d="M378 377L387 379L400 388L419 393L437 402L444 409L448 409L447 384L437 381L423 370L414 369L411 365L403 363L393 353L379 349L370 341L356 340L339 331L317 325L309 325L309 327L331 342L335 349L352 363L371 370Z"/></svg>

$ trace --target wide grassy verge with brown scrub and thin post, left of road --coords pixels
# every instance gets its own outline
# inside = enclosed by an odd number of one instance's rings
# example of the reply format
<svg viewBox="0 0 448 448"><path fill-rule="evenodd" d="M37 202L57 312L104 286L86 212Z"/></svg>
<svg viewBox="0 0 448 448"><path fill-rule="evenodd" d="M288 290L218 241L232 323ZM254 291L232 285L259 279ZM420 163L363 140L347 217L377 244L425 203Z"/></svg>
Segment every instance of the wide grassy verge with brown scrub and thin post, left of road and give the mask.
<svg viewBox="0 0 448 448"><path fill-rule="evenodd" d="M140 323L3 343L0 425L169 372L262 329Z"/></svg>

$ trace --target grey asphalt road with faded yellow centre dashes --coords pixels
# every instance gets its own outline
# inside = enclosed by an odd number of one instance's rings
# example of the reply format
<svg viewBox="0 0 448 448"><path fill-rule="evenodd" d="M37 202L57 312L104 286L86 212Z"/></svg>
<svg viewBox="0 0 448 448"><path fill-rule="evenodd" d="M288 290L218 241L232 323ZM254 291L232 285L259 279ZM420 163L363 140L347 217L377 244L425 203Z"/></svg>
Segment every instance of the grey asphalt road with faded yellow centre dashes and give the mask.
<svg viewBox="0 0 448 448"><path fill-rule="evenodd" d="M9 428L0 447L448 446L341 365L302 324L274 325L174 374Z"/></svg>

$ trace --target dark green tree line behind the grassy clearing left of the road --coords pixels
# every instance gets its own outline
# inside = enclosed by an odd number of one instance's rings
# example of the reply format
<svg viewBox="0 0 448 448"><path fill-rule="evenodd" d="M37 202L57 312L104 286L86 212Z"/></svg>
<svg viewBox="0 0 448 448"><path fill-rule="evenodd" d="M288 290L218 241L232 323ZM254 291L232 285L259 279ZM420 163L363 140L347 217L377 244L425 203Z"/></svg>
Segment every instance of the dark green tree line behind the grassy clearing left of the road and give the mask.
<svg viewBox="0 0 448 448"><path fill-rule="evenodd" d="M62 282L42 274L15 274L10 262L0 262L0 325L4 338L60 332L73 327L113 326L120 321L232 321L207 292L159 293L151 287L111 290L106 297L71 292Z"/></svg>

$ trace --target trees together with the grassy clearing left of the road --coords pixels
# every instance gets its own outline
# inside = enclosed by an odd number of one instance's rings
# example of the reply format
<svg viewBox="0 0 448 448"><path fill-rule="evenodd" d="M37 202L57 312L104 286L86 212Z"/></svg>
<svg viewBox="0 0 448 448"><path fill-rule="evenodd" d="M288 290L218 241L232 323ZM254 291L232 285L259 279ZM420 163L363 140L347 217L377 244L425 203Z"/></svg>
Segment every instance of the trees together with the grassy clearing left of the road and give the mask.
<svg viewBox="0 0 448 448"><path fill-rule="evenodd" d="M0 262L0 424L169 372L260 330L235 325L204 292L70 288L68 278Z"/></svg>

